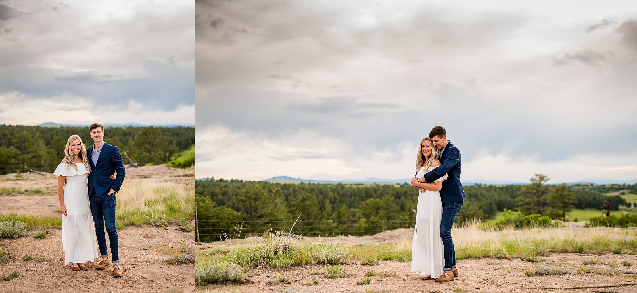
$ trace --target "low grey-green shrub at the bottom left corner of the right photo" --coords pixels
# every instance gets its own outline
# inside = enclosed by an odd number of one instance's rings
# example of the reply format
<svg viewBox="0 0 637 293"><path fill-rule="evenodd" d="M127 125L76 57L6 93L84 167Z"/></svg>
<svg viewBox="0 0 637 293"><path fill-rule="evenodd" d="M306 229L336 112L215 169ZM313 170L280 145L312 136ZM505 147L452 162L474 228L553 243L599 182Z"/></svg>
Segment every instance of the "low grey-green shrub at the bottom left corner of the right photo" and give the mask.
<svg viewBox="0 0 637 293"><path fill-rule="evenodd" d="M211 259L197 259L195 279L198 285L210 283L241 282L241 267L238 264Z"/></svg>

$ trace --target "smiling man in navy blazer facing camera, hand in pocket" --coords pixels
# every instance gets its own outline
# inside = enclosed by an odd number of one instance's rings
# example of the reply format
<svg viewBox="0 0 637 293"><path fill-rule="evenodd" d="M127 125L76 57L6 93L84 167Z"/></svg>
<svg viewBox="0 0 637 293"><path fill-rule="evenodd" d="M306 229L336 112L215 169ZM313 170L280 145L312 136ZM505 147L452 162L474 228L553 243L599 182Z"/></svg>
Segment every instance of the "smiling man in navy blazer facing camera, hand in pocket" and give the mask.
<svg viewBox="0 0 637 293"><path fill-rule="evenodd" d="M96 269L104 269L110 264L106 250L104 226L108 232L108 242L111 245L111 260L113 262L113 276L122 276L124 271L119 266L119 239L115 228L115 193L119 192L124 182L126 169L122 163L122 155L116 146L104 142L104 126L99 123L90 125L90 137L95 144L86 149L89 156L91 172L89 174L90 212L95 222L95 233L99 253L102 259ZM117 170L117 178L111 175Z"/></svg>

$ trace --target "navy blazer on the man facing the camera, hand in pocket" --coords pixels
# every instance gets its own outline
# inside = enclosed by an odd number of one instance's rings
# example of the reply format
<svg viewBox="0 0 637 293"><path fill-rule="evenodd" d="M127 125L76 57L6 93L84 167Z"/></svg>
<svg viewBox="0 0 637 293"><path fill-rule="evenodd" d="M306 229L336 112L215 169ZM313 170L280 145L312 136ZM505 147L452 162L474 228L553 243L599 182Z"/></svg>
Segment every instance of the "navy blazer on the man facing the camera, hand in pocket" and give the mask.
<svg viewBox="0 0 637 293"><path fill-rule="evenodd" d="M104 142L102 151L97 157L97 163L94 162L90 155L94 146L86 149L91 169L89 174L89 196L95 189L97 196L103 198L111 188L115 192L119 192L126 176L126 168L124 168L124 163L122 163L122 155L119 153L119 149L106 142ZM117 178L113 180L110 177L115 173L115 170L117 170Z"/></svg>

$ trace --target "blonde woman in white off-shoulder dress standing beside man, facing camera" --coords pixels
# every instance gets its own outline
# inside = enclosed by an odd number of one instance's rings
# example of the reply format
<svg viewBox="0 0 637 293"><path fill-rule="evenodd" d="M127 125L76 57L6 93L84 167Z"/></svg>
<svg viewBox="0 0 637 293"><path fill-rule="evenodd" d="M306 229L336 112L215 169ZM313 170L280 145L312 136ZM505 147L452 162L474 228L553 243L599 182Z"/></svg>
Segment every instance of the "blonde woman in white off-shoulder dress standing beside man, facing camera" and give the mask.
<svg viewBox="0 0 637 293"><path fill-rule="evenodd" d="M74 134L69 137L64 149L64 160L54 174L58 176L57 196L62 212L64 264L70 263L73 271L86 271L88 267L85 262L97 258L97 243L87 187L90 164L80 136Z"/></svg>

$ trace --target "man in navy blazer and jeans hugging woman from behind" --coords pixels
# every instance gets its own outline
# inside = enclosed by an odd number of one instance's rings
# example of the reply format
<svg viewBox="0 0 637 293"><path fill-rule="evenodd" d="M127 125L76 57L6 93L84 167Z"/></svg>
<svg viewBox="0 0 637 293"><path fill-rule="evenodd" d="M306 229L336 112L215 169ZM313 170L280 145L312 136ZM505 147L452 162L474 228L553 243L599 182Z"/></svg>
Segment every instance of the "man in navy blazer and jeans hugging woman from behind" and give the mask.
<svg viewBox="0 0 637 293"><path fill-rule="evenodd" d="M443 181L440 189L440 200L442 201L442 219L440 221L440 238L442 238L443 250L445 252L445 267L443 274L436 279L436 282L447 282L458 276L455 268L454 240L451 238L451 228L454 226L455 215L460 212L462 202L464 202L464 189L460 183L460 171L462 160L460 151L450 141L447 140L447 130L443 126L436 126L429 132L434 147L438 149L440 155L440 167L417 179L420 182L433 183L436 179L447 174L449 177Z"/></svg>

